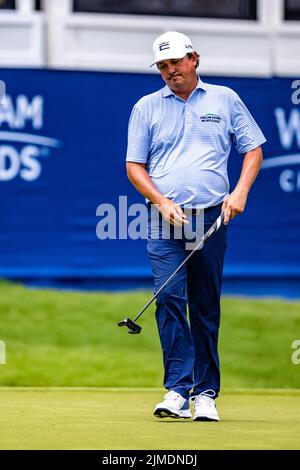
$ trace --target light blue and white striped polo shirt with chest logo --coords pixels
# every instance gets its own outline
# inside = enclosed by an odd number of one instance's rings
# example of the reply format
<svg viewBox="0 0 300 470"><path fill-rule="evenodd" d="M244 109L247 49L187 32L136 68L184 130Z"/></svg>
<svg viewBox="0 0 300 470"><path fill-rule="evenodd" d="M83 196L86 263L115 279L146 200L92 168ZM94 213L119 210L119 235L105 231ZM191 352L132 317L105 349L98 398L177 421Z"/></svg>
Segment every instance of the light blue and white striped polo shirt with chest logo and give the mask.
<svg viewBox="0 0 300 470"><path fill-rule="evenodd" d="M233 90L198 79L187 101L165 86L136 103L126 160L146 163L158 190L180 206L209 207L228 194L232 141L244 154L266 139Z"/></svg>

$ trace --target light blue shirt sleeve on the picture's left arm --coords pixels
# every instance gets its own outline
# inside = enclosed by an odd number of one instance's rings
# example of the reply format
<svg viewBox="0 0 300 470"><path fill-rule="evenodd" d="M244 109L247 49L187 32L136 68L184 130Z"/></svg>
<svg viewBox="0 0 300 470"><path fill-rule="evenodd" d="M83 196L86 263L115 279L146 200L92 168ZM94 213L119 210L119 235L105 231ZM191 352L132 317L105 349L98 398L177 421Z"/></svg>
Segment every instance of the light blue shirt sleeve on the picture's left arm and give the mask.
<svg viewBox="0 0 300 470"><path fill-rule="evenodd" d="M149 126L137 105L134 106L128 124L126 161L147 163L149 153Z"/></svg>

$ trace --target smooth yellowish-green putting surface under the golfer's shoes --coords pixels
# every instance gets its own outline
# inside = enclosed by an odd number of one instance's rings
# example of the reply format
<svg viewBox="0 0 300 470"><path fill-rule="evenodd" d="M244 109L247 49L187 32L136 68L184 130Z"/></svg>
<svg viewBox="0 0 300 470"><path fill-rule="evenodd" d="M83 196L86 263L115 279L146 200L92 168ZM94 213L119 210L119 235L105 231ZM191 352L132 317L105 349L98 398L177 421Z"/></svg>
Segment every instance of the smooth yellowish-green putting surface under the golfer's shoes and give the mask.
<svg viewBox="0 0 300 470"><path fill-rule="evenodd" d="M1 388L1 449L299 449L300 390L236 390L219 423L159 419L157 389Z"/></svg>

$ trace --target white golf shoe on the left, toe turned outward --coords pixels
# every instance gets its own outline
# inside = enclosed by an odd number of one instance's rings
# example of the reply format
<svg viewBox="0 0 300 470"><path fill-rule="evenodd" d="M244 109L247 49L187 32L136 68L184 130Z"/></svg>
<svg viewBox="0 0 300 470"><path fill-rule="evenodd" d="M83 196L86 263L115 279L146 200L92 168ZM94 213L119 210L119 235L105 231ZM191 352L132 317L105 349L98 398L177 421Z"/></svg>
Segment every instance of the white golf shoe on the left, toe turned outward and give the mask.
<svg viewBox="0 0 300 470"><path fill-rule="evenodd" d="M164 401L156 405L154 416L159 418L191 418L189 401L171 390L164 396Z"/></svg>

